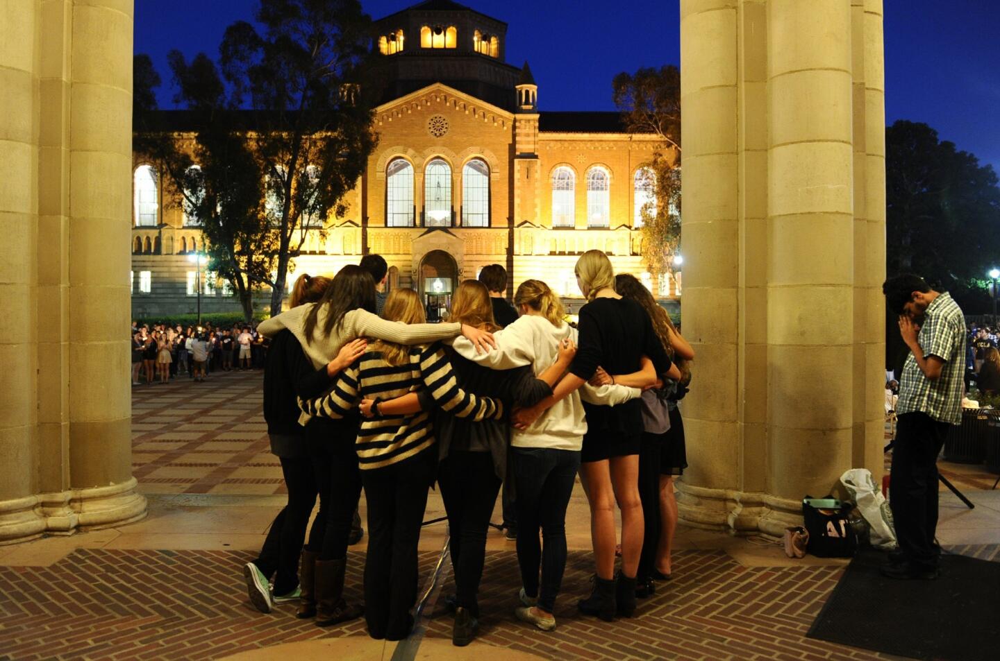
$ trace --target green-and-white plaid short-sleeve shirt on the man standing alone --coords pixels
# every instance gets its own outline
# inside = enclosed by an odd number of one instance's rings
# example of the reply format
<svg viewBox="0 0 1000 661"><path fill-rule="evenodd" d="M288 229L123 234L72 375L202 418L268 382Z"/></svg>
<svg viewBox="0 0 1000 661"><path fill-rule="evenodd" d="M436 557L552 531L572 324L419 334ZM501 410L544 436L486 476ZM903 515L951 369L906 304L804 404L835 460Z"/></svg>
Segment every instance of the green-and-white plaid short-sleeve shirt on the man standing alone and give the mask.
<svg viewBox="0 0 1000 661"><path fill-rule="evenodd" d="M951 296L941 294L927 307L917 341L924 358L936 355L944 360L941 377L930 380L921 371L913 353L907 355L899 379L896 414L922 412L935 420L961 424L965 318Z"/></svg>

